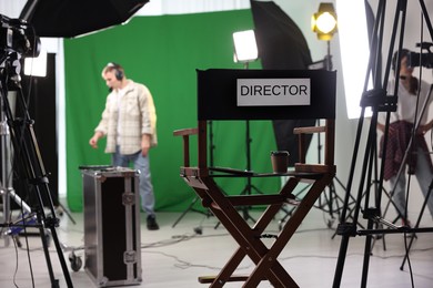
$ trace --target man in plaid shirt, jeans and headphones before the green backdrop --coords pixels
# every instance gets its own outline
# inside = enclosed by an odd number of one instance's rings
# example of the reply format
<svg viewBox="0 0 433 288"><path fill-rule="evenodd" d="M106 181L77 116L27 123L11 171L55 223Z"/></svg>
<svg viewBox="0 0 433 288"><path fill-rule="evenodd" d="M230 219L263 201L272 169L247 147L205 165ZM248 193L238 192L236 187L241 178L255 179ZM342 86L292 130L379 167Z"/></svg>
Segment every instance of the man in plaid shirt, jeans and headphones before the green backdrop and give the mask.
<svg viewBox="0 0 433 288"><path fill-rule="evenodd" d="M107 136L105 153L112 154L112 165L128 167L132 163L140 171L141 207L148 215L148 229L157 230L149 163L149 150L158 144L152 95L145 85L127 79L119 64L109 63L102 70L102 78L110 94L89 144L97 148L98 141Z"/></svg>

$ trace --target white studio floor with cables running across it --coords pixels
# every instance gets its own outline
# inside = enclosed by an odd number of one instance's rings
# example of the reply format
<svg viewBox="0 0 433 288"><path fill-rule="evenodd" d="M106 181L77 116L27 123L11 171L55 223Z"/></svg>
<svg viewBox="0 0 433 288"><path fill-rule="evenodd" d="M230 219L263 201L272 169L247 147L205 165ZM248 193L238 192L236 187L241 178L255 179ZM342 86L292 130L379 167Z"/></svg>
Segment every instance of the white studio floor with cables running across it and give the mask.
<svg viewBox="0 0 433 288"><path fill-rule="evenodd" d="M142 278L140 286L132 287L208 287L199 284L199 276L216 275L235 250L238 245L213 216L188 212L179 219L181 213L158 213L160 229L149 232L145 228L145 215L141 214L141 258ZM258 212L251 216L259 217ZM285 214L280 213L283 217ZM83 217L81 213L63 213L60 227L57 229L73 287L97 287L89 275L81 268L73 271L70 267L71 249L83 258ZM281 218L280 218L281 219ZM279 257L281 265L289 271L300 287L332 287L341 236L334 236L336 223L330 225L330 215L313 208L300 229L289 241ZM330 226L330 227L329 227ZM334 227L335 226L335 227ZM279 219L266 233L278 233ZM201 234L200 234L201 233ZM410 253L413 287L433 287L433 234L419 233ZM10 240L0 248L0 287L51 287L48 266L39 236L27 237L29 250L14 248ZM402 266L405 255L403 234L387 234L383 240L376 240L370 259L367 287L412 287L410 266ZM266 239L268 240L268 239ZM26 237L20 237L22 247L27 247ZM269 239L272 241L272 239ZM409 241L409 240L407 240ZM350 239L345 256L341 287L360 287L363 267L365 237ZM59 264L54 245L50 245L50 259L54 276L60 287L67 287L64 275ZM31 270L29 268L31 263ZM254 265L245 259L238 274L248 274ZM225 287L241 287L241 282L229 282ZM259 287L271 287L262 281Z"/></svg>

